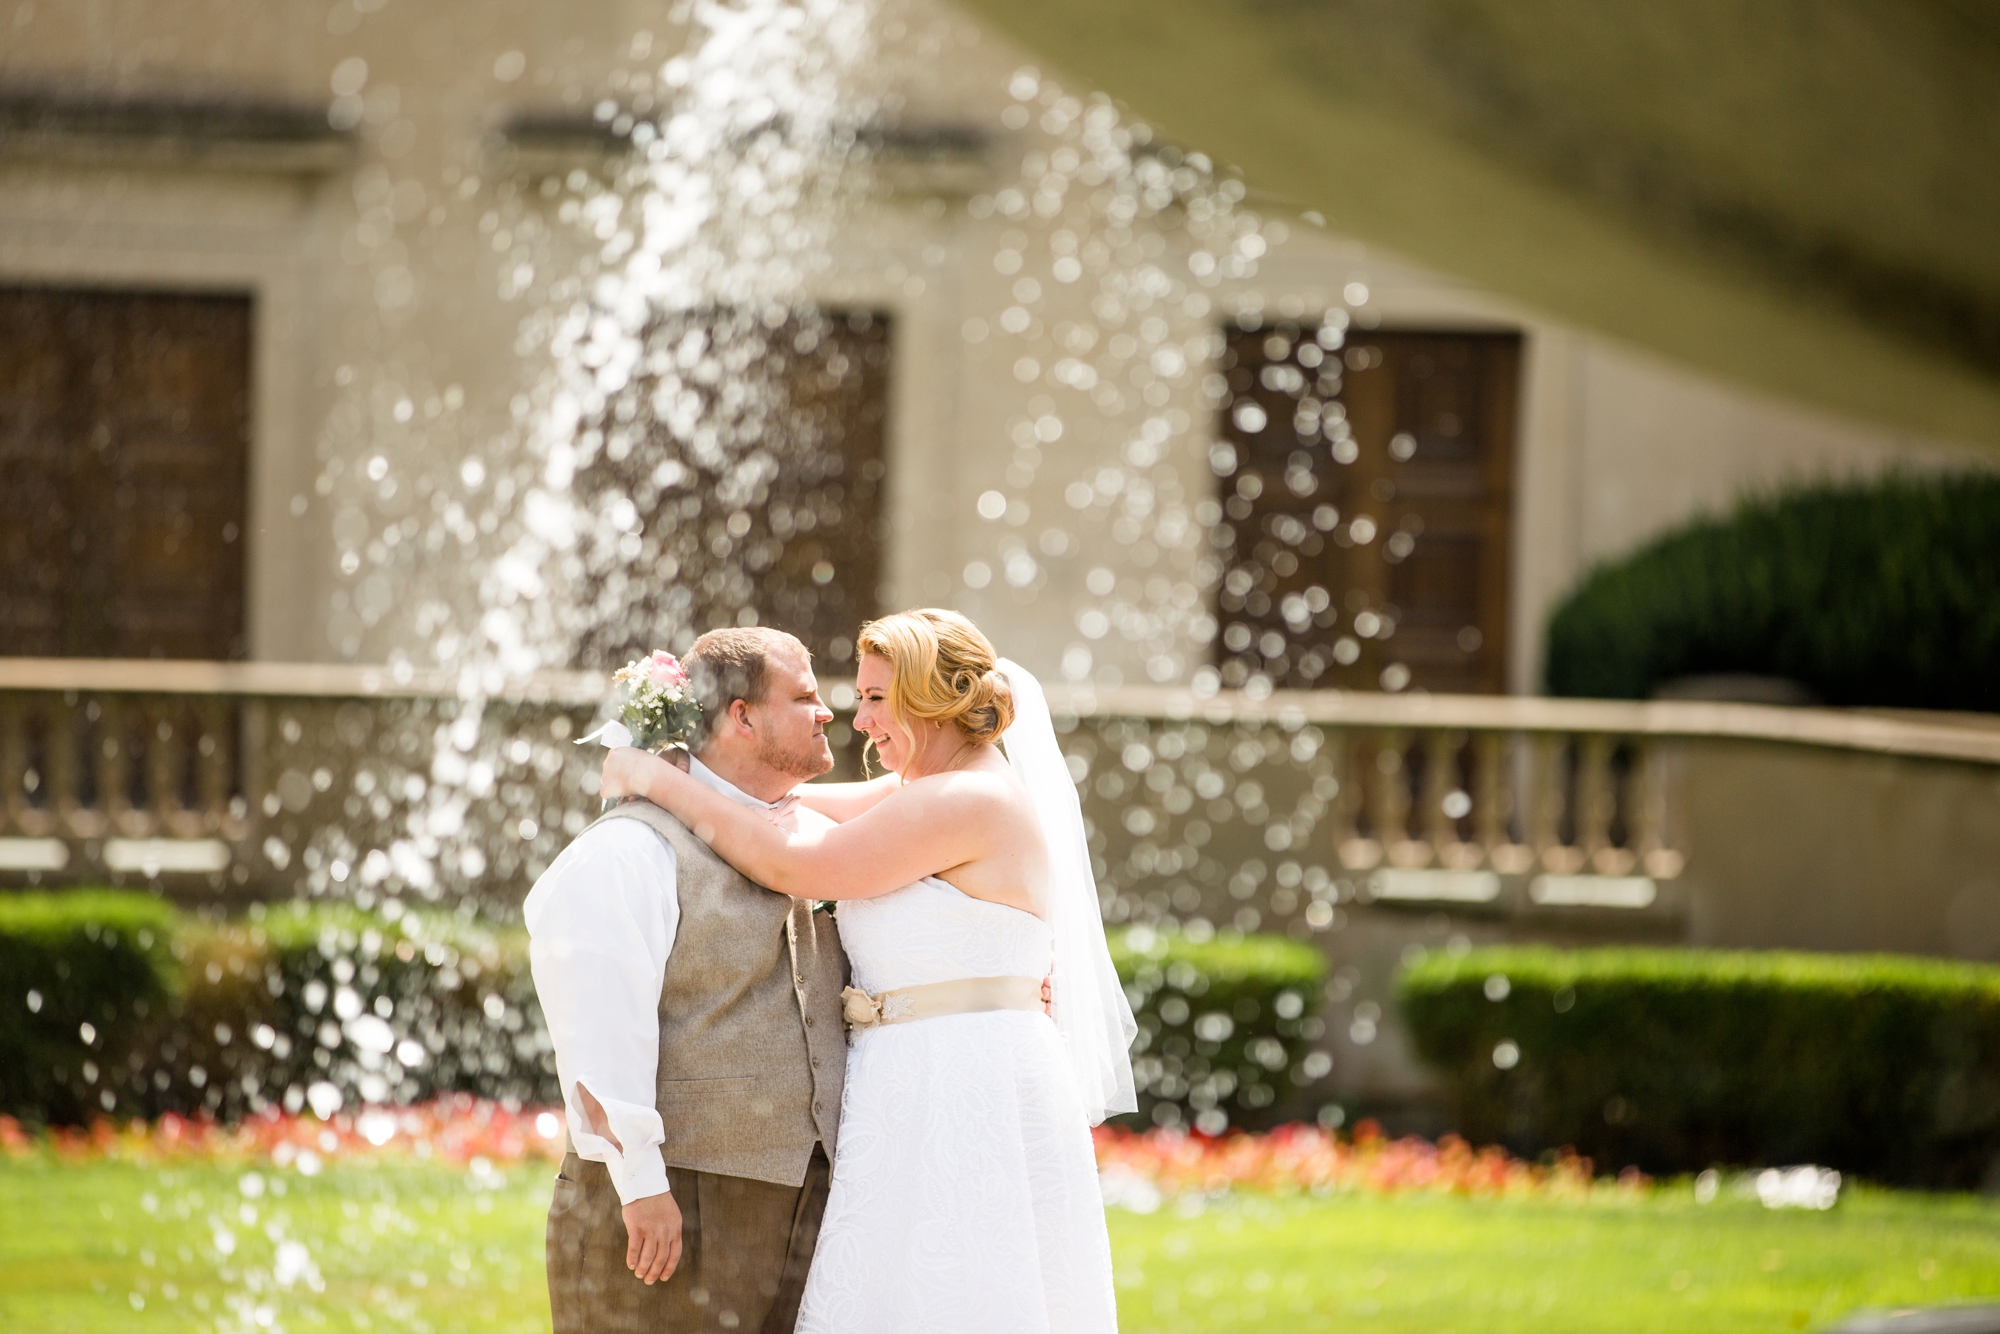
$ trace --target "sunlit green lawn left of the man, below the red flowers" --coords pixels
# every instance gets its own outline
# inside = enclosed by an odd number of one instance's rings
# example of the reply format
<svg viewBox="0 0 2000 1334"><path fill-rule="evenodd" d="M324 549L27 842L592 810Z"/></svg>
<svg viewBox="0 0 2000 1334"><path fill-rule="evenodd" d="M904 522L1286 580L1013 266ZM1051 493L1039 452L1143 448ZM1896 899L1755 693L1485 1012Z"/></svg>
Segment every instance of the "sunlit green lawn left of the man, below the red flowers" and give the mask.
<svg viewBox="0 0 2000 1334"><path fill-rule="evenodd" d="M552 1174L0 1160L0 1330L548 1330Z"/></svg>

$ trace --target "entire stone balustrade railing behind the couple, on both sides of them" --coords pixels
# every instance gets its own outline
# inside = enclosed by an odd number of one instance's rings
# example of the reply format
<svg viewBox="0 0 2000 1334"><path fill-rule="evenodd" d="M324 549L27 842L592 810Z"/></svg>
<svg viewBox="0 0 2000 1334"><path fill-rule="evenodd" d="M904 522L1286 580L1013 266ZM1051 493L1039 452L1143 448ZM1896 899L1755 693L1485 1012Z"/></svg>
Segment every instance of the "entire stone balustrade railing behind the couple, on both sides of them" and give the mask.
<svg viewBox="0 0 2000 1334"><path fill-rule="evenodd" d="M0 874L276 892L358 874L370 852L376 880L408 874L386 850L414 848L468 880L520 882L590 816L594 756L568 738L604 686L592 672L0 658ZM852 690L828 682L828 698L850 706ZM2000 728L1944 716L1172 688L1052 688L1050 704L1104 870L1134 892L1214 842L1370 876L1384 898L1480 898L1492 878L1540 876L1538 894L1566 902L1564 878L1680 874L1678 742L2000 766ZM444 784L456 804L428 790ZM1224 826L1236 836L1220 840Z"/></svg>

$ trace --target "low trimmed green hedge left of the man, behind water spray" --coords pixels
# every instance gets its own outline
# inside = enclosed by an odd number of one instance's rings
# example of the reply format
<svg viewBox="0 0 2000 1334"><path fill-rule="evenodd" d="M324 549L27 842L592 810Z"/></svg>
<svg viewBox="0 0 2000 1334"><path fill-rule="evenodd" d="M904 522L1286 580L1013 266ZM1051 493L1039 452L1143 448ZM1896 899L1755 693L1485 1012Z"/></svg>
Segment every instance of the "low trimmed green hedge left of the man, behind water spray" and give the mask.
<svg viewBox="0 0 2000 1334"><path fill-rule="evenodd" d="M316 1084L554 1102L526 934L348 906L216 924L132 892L0 896L0 1112L240 1116L296 1110Z"/></svg>

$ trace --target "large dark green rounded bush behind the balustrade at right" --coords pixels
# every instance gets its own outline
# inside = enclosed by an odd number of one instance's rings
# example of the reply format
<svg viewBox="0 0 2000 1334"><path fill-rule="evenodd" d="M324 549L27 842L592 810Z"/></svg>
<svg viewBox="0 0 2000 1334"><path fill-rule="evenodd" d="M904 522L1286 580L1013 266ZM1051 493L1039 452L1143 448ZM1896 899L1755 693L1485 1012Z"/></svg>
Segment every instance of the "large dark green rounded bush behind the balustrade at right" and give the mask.
<svg viewBox="0 0 2000 1334"><path fill-rule="evenodd" d="M1552 694L1638 700L1706 674L2000 712L2000 476L1750 498L1600 566L1548 622Z"/></svg>

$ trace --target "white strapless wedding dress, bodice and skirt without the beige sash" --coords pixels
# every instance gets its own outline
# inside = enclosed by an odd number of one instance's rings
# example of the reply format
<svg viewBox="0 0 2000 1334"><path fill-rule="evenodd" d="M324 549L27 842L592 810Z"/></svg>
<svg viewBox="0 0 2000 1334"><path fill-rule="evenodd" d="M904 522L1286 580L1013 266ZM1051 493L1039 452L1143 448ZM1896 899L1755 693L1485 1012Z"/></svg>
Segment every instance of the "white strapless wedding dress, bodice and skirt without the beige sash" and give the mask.
<svg viewBox="0 0 2000 1334"><path fill-rule="evenodd" d="M840 904L854 986L1040 978L1050 928L944 880ZM1118 1328L1090 1116L1040 1012L854 1034L800 1334Z"/></svg>

